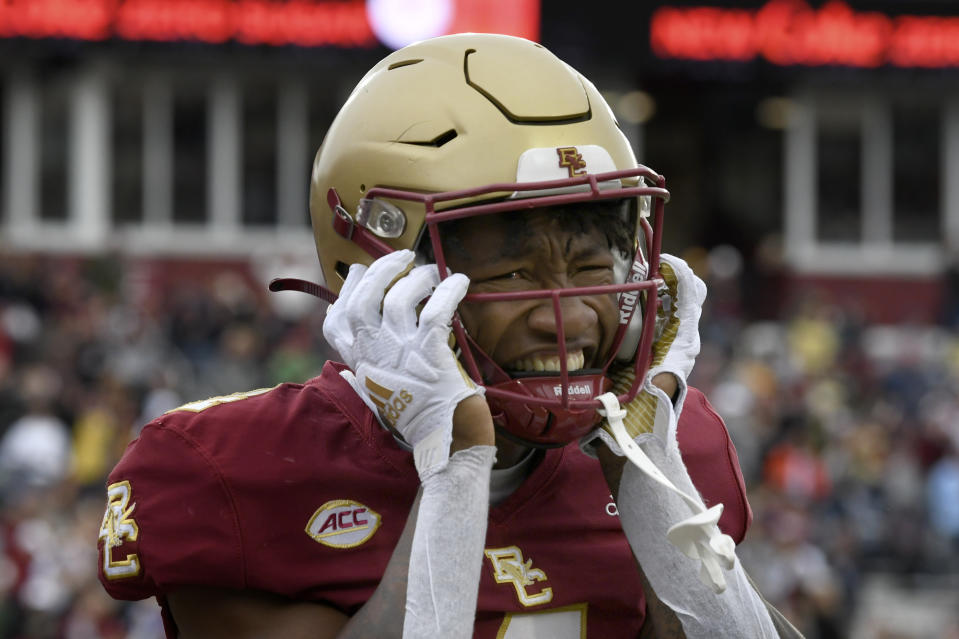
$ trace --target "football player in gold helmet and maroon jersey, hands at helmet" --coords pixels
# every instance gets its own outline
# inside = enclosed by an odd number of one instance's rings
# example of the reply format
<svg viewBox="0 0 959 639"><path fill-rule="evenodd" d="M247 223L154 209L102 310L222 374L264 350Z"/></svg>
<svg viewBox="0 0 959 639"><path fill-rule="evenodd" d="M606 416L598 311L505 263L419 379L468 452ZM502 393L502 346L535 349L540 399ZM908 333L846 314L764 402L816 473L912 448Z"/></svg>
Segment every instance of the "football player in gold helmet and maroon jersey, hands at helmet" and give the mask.
<svg viewBox="0 0 959 639"><path fill-rule="evenodd" d="M705 286L665 180L542 46L357 85L313 167L343 363L187 404L109 479L100 576L169 637L773 637L735 450L686 385Z"/></svg>

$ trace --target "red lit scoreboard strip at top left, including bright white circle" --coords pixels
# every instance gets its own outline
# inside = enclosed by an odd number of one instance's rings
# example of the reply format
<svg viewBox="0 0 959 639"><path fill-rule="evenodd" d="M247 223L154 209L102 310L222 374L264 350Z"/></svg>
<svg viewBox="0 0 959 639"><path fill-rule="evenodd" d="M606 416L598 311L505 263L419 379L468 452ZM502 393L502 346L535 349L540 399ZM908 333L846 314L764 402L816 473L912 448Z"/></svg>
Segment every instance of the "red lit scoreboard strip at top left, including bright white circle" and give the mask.
<svg viewBox="0 0 959 639"><path fill-rule="evenodd" d="M441 31L421 37L482 31L539 38L539 0L433 0L414 6L435 9L437 3L449 19ZM389 20L398 22L404 14L408 21L419 18L403 0L377 5L388 10ZM0 38L11 37L304 47L378 42L364 0L0 0Z"/></svg>

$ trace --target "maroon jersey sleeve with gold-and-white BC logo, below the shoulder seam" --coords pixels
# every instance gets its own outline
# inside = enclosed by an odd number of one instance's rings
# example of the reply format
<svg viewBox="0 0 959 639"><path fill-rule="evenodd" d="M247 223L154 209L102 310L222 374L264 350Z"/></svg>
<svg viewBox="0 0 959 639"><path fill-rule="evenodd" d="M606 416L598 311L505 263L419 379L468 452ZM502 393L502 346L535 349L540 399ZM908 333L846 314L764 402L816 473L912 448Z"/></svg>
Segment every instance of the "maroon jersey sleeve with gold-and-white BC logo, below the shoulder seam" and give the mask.
<svg viewBox="0 0 959 639"><path fill-rule="evenodd" d="M144 427L107 480L98 572L117 599L245 585L230 493L213 460L173 423L175 414Z"/></svg>

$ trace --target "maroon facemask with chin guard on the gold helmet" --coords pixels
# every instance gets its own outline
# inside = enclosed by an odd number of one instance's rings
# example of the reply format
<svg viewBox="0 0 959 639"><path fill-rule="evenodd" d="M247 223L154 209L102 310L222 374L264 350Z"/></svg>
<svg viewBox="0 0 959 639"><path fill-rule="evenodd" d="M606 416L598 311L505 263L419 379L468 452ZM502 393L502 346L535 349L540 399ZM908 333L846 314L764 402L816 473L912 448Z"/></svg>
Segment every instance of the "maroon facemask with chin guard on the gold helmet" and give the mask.
<svg viewBox="0 0 959 639"><path fill-rule="evenodd" d="M604 188L607 184L637 177L642 178L637 186ZM648 186L645 181L655 186ZM523 197L524 194L534 191L535 196ZM503 193L514 195L509 199L482 200L484 195L495 197ZM649 369L656 311L659 305L657 287L663 210L664 204L669 199L665 178L645 166L638 166L635 169L586 174L569 179L491 184L442 193L416 193L377 187L370 189L362 202L370 203L379 199L422 204L426 210L426 237L432 247L440 277L445 279L447 261L443 252L440 228L444 222L594 200L644 197L655 202L652 207L652 225L645 217L640 217L638 225L644 239L645 257L642 249L636 250L624 283L505 293L473 293L464 298L465 302L470 303L549 300L556 322L556 346L560 362L558 373L508 373L473 341L458 315L453 319L452 329L456 337L460 361L473 381L485 387L486 399L500 432L527 446L554 447L577 441L599 423L601 417L597 409L602 408L602 405L595 397L609 391L612 387L613 382L609 375L611 366L628 366L633 372L632 385L626 392L618 395L620 404L626 404L636 396ZM444 203L463 199L480 201L454 209L436 210L438 205L442 206ZM355 242L374 258L393 250L369 229L354 222L352 216L340 204L335 190L330 189L327 201L334 210L334 229L338 233ZM363 203L360 208L364 208ZM637 232L637 235L640 233ZM301 290L328 301L335 300L332 292L300 280L274 280L270 288L271 290ZM569 371L561 299L609 294L618 295L620 323L602 368ZM641 304L641 300L645 300L645 303ZM642 326L638 343L635 350L632 353L626 353L624 357L621 352L623 342L627 339L627 329L636 314L642 315L641 318L636 318L641 320ZM627 350L631 350L631 347Z"/></svg>

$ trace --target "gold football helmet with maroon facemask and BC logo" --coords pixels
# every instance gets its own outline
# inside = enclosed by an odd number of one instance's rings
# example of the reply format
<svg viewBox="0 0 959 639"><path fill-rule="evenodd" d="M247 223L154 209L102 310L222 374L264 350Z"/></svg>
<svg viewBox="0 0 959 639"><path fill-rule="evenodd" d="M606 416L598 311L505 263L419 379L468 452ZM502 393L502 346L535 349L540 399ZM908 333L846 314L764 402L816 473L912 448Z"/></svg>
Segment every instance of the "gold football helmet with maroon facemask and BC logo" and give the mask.
<svg viewBox="0 0 959 639"><path fill-rule="evenodd" d="M610 387L607 369L617 354L639 380L621 401L638 390L656 303L646 304L649 321L639 321L636 301L649 291L646 298L656 299L668 197L662 176L636 163L589 80L534 42L459 34L400 49L363 77L316 155L310 213L326 287L335 293L350 264L400 248L429 254L445 274L440 223L447 220L588 200L629 202L635 255L620 269L621 284L530 292L545 303L560 295L619 295L620 335L602 370L566 370L560 329L560 374L519 378L454 321L461 361L486 387L497 425L524 443L552 446L598 421L592 398Z"/></svg>

